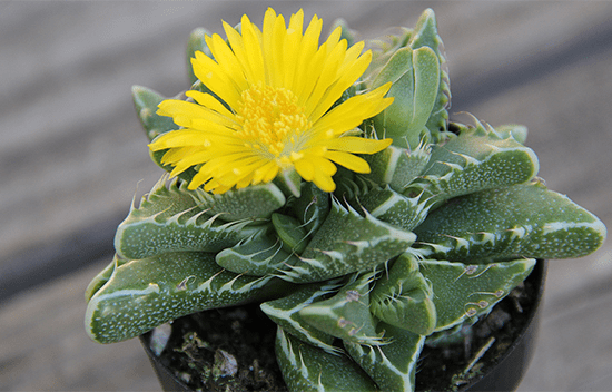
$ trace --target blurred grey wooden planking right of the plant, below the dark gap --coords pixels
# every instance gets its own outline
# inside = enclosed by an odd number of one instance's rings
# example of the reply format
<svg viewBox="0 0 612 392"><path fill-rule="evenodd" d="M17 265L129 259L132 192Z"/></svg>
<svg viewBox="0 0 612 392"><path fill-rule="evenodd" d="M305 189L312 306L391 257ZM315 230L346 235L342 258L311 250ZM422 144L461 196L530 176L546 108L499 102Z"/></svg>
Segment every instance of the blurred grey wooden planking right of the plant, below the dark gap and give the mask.
<svg viewBox="0 0 612 392"><path fill-rule="evenodd" d="M546 184L612 227L610 50L470 108L493 125L530 128ZM605 114L605 115L604 115ZM520 391L604 391L612 385L612 244L581 259L551 261L543 320Z"/></svg>

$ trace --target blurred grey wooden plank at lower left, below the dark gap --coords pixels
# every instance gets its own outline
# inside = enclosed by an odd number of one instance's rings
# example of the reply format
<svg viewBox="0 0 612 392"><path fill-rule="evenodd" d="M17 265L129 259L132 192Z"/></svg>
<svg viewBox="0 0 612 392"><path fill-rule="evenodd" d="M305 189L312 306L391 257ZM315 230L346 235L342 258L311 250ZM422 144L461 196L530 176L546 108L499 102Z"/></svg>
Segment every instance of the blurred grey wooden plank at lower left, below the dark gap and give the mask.
<svg viewBox="0 0 612 392"><path fill-rule="evenodd" d="M85 333L83 292L108 263L99 261L1 305L1 390L160 390L138 340L101 345Z"/></svg>

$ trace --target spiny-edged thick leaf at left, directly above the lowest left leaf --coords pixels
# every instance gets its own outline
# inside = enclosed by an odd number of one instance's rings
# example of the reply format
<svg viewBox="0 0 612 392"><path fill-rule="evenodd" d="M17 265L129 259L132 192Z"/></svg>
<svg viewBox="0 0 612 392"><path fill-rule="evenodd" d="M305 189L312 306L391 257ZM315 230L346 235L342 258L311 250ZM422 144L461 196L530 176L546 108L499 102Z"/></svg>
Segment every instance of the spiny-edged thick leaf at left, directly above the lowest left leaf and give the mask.
<svg viewBox="0 0 612 392"><path fill-rule="evenodd" d="M249 224L219 222L196 202L194 192L167 177L132 207L115 236L117 253L127 259L151 257L166 252L219 252L261 229Z"/></svg>

